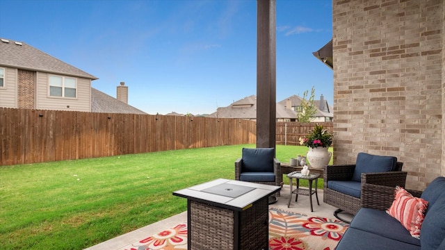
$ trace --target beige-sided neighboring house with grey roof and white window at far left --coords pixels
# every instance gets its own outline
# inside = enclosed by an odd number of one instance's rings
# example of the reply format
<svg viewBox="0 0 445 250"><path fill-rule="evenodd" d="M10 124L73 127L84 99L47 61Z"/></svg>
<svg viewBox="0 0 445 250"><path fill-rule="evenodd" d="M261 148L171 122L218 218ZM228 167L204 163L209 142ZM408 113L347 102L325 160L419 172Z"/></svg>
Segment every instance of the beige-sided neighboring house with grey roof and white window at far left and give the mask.
<svg viewBox="0 0 445 250"><path fill-rule="evenodd" d="M96 79L24 42L1 38L0 107L143 113L126 103L118 103L117 99L111 101L113 97L104 97L104 93L92 89L91 82ZM119 88L127 90L126 86L118 86L118 95ZM106 107L108 105L110 107Z"/></svg>

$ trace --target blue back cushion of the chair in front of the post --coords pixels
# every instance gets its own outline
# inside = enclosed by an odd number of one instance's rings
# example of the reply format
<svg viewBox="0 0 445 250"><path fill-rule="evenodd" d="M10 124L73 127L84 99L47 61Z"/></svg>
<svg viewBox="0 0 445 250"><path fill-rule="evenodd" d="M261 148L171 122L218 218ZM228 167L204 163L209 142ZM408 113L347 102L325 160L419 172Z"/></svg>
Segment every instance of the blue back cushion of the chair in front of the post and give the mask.
<svg viewBox="0 0 445 250"><path fill-rule="evenodd" d="M243 165L241 172L273 172L273 148L243 148Z"/></svg>

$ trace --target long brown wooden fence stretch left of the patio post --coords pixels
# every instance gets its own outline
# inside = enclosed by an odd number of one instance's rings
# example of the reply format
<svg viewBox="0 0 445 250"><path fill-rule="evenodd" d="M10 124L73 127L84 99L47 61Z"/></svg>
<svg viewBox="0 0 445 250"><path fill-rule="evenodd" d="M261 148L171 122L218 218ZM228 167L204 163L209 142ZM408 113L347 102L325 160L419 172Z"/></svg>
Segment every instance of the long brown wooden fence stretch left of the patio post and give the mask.
<svg viewBox="0 0 445 250"><path fill-rule="evenodd" d="M0 165L256 142L241 119L0 108Z"/></svg>

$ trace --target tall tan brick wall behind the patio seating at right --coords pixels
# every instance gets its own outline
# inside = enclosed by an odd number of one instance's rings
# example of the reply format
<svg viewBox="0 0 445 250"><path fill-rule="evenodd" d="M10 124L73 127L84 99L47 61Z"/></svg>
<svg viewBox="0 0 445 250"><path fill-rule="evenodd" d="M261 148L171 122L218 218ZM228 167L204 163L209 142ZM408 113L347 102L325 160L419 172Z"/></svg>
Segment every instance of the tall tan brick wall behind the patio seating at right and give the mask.
<svg viewBox="0 0 445 250"><path fill-rule="evenodd" d="M444 6L332 2L335 164L397 156L414 189L445 173Z"/></svg>

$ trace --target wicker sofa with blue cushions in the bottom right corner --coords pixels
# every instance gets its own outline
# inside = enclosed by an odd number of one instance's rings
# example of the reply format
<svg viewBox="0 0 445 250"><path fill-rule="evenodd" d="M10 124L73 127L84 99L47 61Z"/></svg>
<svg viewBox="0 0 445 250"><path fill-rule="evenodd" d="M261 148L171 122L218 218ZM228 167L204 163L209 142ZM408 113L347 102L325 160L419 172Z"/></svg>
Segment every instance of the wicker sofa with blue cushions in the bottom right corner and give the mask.
<svg viewBox="0 0 445 250"><path fill-rule="evenodd" d="M394 188L364 183L364 207L353 218L336 250L445 249L445 177L435 178L423 192L407 191L428 201L420 240L412 238L401 222L386 213L394 201Z"/></svg>

